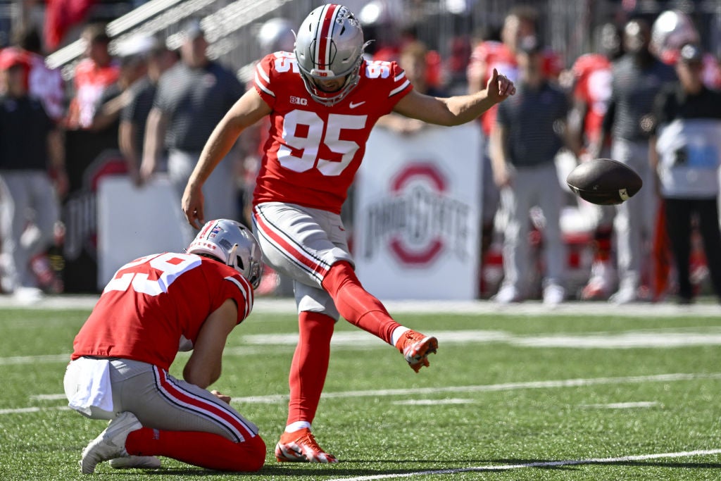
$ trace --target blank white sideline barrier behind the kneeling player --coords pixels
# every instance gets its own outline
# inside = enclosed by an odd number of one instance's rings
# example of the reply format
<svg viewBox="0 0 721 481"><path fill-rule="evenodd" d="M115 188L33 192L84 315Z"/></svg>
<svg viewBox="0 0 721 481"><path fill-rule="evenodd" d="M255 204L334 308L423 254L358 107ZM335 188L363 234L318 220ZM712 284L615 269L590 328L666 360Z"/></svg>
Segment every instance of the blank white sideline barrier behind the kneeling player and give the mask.
<svg viewBox="0 0 721 481"><path fill-rule="evenodd" d="M166 177L143 187L125 175L102 177L97 189L98 289L102 291L115 271L133 259L182 252L192 240L184 219L180 198Z"/></svg>

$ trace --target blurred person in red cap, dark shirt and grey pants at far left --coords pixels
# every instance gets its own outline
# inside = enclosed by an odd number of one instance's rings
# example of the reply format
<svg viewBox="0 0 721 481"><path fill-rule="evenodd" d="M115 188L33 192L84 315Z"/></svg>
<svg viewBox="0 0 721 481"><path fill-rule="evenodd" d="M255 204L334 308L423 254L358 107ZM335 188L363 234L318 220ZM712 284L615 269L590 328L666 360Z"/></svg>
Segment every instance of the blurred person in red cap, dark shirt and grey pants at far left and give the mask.
<svg viewBox="0 0 721 481"><path fill-rule="evenodd" d="M2 288L23 301L42 295L30 260L53 244L58 198L68 189L63 137L43 102L28 93L30 66L19 48L0 52Z"/></svg>

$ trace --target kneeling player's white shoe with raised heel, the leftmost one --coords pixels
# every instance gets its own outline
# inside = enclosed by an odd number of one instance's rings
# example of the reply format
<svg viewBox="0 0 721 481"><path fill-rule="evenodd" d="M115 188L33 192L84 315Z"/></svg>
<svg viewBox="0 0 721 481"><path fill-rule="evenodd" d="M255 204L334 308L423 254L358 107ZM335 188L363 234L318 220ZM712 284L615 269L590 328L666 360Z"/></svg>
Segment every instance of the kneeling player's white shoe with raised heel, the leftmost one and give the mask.
<svg viewBox="0 0 721 481"><path fill-rule="evenodd" d="M82 459L80 460L80 470L84 475L92 475L95 466L99 462L108 459L127 457L128 451L125 451L125 440L128 434L142 428L143 425L132 412L121 412L117 418L110 421L105 431L100 436L90 441L90 444L83 449Z"/></svg>

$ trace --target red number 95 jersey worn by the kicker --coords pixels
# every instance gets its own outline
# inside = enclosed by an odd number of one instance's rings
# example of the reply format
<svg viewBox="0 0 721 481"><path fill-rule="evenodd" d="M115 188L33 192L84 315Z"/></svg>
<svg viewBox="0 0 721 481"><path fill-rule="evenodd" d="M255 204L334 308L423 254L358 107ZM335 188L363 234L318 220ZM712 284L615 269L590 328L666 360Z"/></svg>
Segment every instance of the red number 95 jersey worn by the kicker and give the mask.
<svg viewBox="0 0 721 481"><path fill-rule="evenodd" d="M327 107L306 91L293 53L265 56L256 67L255 89L273 112L253 203L340 213L371 128L412 88L397 63L366 61L358 85Z"/></svg>

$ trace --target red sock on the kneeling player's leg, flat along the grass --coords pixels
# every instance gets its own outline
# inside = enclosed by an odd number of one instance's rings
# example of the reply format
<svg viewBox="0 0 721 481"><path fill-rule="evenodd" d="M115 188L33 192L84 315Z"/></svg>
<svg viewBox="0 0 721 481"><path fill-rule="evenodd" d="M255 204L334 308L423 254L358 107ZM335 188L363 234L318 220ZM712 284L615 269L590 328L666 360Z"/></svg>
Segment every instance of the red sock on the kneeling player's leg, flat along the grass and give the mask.
<svg viewBox="0 0 721 481"><path fill-rule="evenodd" d="M134 456L167 456L218 471L255 472L265 463L260 436L234 443L213 433L141 428L128 434L125 451Z"/></svg>

